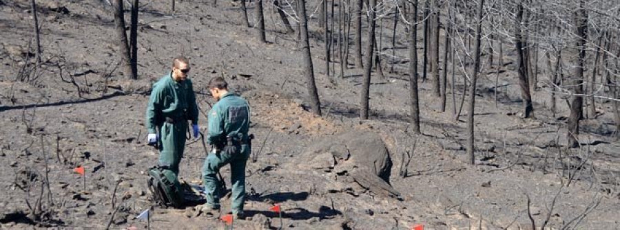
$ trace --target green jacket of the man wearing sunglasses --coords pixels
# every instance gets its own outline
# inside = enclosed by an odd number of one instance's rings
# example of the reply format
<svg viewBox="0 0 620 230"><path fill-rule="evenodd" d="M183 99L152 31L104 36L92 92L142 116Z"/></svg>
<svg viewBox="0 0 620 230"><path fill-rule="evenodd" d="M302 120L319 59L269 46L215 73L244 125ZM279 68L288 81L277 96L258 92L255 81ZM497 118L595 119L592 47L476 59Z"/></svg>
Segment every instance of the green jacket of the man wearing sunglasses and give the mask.
<svg viewBox="0 0 620 230"><path fill-rule="evenodd" d="M156 133L156 128L165 122L166 117L175 122L192 120L192 124L198 124L198 106L192 80L176 82L172 79L172 72L153 85L145 122L149 133Z"/></svg>

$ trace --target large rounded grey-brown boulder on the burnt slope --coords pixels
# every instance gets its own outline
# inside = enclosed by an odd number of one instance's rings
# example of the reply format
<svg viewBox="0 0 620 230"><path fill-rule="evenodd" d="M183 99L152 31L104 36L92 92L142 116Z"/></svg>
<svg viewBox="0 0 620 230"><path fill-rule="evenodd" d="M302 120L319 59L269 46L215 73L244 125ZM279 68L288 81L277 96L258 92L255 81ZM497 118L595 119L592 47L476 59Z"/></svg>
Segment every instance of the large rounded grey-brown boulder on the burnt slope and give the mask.
<svg viewBox="0 0 620 230"><path fill-rule="evenodd" d="M317 141L301 154L298 167L351 176L375 194L400 196L389 184L390 154L375 133L356 130Z"/></svg>

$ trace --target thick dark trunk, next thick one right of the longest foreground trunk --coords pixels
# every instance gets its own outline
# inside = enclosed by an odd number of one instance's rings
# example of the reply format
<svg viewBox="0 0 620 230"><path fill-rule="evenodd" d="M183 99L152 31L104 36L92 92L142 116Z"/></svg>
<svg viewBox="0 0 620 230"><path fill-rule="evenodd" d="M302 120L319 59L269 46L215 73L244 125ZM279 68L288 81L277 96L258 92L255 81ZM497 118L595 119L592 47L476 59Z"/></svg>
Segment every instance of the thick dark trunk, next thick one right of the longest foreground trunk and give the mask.
<svg viewBox="0 0 620 230"><path fill-rule="evenodd" d="M528 54L526 52L526 43L523 37L523 4L517 5L517 21L515 23L515 46L517 49L517 73L519 76L519 88L521 89L521 99L524 106L524 118L533 115L534 106L532 104L532 95L530 91L530 78L528 78Z"/></svg>

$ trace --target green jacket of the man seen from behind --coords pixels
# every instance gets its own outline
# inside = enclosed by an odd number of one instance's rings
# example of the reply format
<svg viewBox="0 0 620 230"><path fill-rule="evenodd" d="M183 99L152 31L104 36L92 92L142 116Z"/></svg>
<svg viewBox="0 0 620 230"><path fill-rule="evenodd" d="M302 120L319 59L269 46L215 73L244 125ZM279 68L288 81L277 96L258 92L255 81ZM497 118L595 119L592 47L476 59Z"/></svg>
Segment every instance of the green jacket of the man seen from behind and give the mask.
<svg viewBox="0 0 620 230"><path fill-rule="evenodd" d="M240 137L247 141L250 108L245 99L235 93L227 93L209 111L207 143L222 144L226 136Z"/></svg>

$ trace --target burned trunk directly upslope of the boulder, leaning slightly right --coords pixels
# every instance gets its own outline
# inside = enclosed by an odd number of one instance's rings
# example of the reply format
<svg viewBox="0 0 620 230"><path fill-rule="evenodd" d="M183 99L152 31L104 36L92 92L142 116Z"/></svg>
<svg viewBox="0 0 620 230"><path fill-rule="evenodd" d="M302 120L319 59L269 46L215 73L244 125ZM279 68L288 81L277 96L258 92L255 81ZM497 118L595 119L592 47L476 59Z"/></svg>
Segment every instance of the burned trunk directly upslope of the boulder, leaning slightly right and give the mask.
<svg viewBox="0 0 620 230"><path fill-rule="evenodd" d="M373 51L375 39L375 0L369 0L368 5L369 27L368 27L368 47L366 47L366 63L364 63L364 80L362 82L362 98L360 100L360 117L369 117L369 94L371 82L371 69L373 69Z"/></svg>

